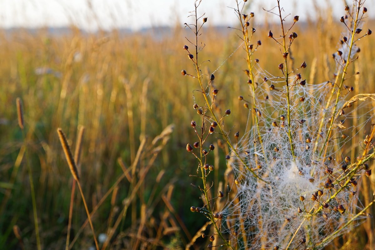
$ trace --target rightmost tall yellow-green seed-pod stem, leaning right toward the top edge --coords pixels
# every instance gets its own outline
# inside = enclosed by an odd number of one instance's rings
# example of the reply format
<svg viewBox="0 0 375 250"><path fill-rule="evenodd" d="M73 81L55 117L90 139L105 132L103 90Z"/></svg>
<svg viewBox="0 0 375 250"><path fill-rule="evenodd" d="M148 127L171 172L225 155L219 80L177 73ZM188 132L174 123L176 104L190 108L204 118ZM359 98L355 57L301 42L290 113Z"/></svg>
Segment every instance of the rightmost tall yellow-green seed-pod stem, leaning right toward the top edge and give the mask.
<svg viewBox="0 0 375 250"><path fill-rule="evenodd" d="M342 71L341 80L340 80L340 84L339 84L339 87L338 87L338 92L337 92L337 95L336 95L335 106L333 107L333 111L332 111L331 122L330 122L330 125L329 125L329 128L328 128L327 134L326 134L326 138L324 140L324 146L321 148L321 150L319 152L319 157L321 157L322 154L323 154L323 152L326 152L327 148L328 148L328 141L329 141L329 138L331 136L332 125L333 125L333 121L334 121L333 118L336 116L336 113L337 113L337 105L338 105L338 102L339 102L339 99L340 99L342 85L343 85L344 80L345 80L345 75L347 74L348 66L350 64L350 55L351 55L351 51L353 49L353 45L354 45L354 42L355 42L354 41L354 35L356 34L355 30L357 29L357 25L359 23L358 18L359 18L359 11L360 11L359 7L360 6L361 6L361 0L358 1L358 8L356 8L356 19L354 20L354 27L353 27L353 30L351 31L351 41L350 41L350 45L349 45L349 53L348 53L348 57L347 57L347 62L345 63L344 69ZM334 90L335 90L335 88L332 90L331 95L333 95L333 91ZM329 104L329 102L327 103L327 105L328 104ZM324 119L324 117L323 117L323 119ZM320 126L320 129L319 129L319 133L321 132L321 127L323 127L323 119L321 121L321 126Z"/></svg>

